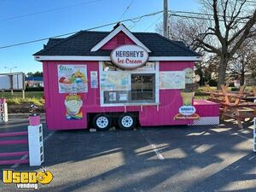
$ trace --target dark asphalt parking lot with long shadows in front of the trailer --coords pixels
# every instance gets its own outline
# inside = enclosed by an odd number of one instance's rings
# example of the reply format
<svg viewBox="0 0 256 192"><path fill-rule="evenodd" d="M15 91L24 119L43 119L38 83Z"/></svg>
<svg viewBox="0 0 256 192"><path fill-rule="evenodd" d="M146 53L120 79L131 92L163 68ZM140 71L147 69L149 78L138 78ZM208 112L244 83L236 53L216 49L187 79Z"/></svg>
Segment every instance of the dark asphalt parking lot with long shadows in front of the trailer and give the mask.
<svg viewBox="0 0 256 192"><path fill-rule="evenodd" d="M24 120L12 121L2 124L0 132L25 130L26 125ZM95 192L255 191L252 136L252 123L244 130L232 123L138 127L136 131L44 130L42 166L55 177L52 183L39 188ZM28 171L41 167L1 168ZM0 189L14 191L15 185L0 183Z"/></svg>

